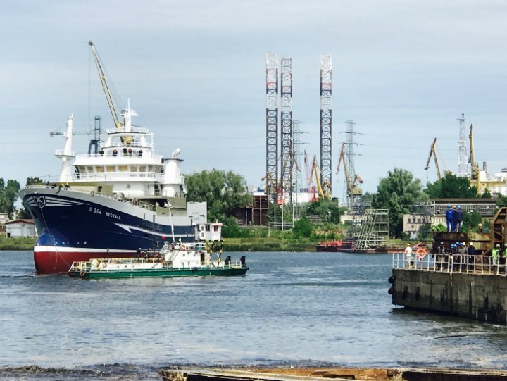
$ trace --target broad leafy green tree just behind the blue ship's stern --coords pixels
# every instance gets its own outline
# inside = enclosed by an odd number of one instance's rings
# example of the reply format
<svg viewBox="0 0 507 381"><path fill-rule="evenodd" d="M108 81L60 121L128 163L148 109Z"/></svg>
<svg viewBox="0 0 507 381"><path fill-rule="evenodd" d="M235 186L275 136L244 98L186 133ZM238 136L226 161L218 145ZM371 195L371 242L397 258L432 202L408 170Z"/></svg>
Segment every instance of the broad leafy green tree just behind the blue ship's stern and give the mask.
<svg viewBox="0 0 507 381"><path fill-rule="evenodd" d="M208 203L208 220L224 221L234 208L251 205L251 195L242 175L213 169L187 175L187 201Z"/></svg>

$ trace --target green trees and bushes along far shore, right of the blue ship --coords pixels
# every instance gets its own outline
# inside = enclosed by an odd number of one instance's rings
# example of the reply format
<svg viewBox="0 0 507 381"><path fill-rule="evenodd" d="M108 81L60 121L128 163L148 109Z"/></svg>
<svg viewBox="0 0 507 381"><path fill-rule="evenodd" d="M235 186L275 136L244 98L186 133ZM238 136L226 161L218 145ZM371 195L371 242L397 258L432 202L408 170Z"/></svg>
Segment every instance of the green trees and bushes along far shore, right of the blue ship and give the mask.
<svg viewBox="0 0 507 381"><path fill-rule="evenodd" d="M480 195L490 198L489 192ZM402 168L389 170L380 179L377 192L365 194L365 200L371 202L372 208L387 209L389 211L389 235L401 237L403 232L403 214L411 213L413 204L428 199L468 199L477 197L477 189L470 185L466 177L458 177L447 173L442 179L428 182L426 186L415 179L413 174ZM246 189L246 180L241 175L221 170L202 171L187 176L187 199L189 201L207 201L208 218L219 220L225 225L225 236L237 229L234 208L251 204L251 195ZM507 197L500 198L505 202ZM275 213L276 209L276 213ZM325 223L339 223L339 216L345 208L340 208L336 201L320 200L308 204L303 210L304 215L321 216ZM283 216L282 216L282 213ZM282 210L276 204L270 206L270 220L276 216L280 221L292 220L289 208ZM465 216L465 223L477 223L477 216ZM296 223L295 230L301 227L307 231L310 227L306 221Z"/></svg>

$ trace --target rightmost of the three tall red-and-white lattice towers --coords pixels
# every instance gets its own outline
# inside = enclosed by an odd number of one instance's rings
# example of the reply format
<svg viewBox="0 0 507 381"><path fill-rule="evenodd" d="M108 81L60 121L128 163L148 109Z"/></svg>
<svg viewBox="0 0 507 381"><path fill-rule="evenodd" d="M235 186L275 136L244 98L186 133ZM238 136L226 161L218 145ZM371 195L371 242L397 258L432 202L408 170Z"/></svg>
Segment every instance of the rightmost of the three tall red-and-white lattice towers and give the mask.
<svg viewBox="0 0 507 381"><path fill-rule="evenodd" d="M331 56L320 55L320 183L325 193L332 194L331 177L331 93L332 62Z"/></svg>

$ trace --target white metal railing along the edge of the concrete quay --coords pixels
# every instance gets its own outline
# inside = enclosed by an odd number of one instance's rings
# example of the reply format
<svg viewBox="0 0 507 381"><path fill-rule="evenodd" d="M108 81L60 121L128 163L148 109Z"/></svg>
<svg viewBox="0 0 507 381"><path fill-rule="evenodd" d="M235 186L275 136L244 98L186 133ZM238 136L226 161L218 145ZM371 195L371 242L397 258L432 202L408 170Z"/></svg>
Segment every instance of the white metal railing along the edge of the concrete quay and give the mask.
<svg viewBox="0 0 507 381"><path fill-rule="evenodd" d="M501 275L507 277L507 257L477 256L468 254L426 254L410 257L394 253L393 268L430 271L434 273L459 273L476 275Z"/></svg>

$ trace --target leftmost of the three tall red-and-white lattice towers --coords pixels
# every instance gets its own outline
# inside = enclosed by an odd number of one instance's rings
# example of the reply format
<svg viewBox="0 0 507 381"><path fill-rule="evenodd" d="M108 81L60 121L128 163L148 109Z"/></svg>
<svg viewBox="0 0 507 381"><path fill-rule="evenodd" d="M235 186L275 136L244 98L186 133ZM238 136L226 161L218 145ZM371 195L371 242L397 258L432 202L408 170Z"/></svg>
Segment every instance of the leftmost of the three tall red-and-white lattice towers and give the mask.
<svg viewBox="0 0 507 381"><path fill-rule="evenodd" d="M278 190L278 54L266 54L266 174L265 193Z"/></svg>

